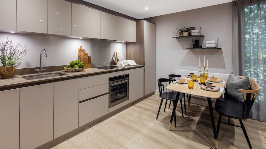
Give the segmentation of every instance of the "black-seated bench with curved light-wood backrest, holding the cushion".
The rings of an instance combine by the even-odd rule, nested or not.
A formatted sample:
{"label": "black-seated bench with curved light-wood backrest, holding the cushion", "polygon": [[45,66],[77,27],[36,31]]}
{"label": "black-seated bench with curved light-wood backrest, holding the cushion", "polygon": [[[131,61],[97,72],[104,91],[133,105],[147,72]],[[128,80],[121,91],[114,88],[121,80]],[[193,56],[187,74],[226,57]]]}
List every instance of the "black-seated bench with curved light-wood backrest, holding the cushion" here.
{"label": "black-seated bench with curved light-wood backrest, holding the cushion", "polygon": [[[236,77],[241,78],[241,79],[247,78],[244,76],[236,76]],[[248,78],[248,79],[250,81],[249,87],[246,90],[238,89],[240,94],[241,93],[244,94],[242,95],[243,101],[239,101],[235,97],[232,97],[232,94],[229,95],[228,91],[230,88],[228,88],[227,85],[226,85],[227,91],[225,92],[225,98],[220,97],[219,99],[216,100],[215,110],[220,114],[219,119],[218,119],[216,133],[218,137],[221,123],[225,123],[225,124],[235,126],[235,127],[241,127],[247,139],[247,143],[249,147],[252,148],[251,143],[247,136],[246,129],[242,123],[242,120],[246,120],[251,117],[251,107],[256,99],[256,96],[258,95],[260,91],[260,85],[254,79],[251,79],[251,78]],[[222,115],[228,117],[228,123],[221,121]],[[230,123],[230,118],[238,119],[241,126]]]}

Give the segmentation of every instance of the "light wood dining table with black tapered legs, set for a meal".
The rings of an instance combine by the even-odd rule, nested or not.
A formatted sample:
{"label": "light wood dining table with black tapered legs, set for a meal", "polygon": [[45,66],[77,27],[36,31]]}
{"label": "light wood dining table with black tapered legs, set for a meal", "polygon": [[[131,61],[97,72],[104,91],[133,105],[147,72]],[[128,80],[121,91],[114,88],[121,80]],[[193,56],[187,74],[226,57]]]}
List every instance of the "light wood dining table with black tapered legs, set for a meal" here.
{"label": "light wood dining table with black tapered legs, set for a meal", "polygon": [[[170,83],[168,86],[166,86],[166,89],[178,92],[178,94],[176,95],[176,100],[178,100],[180,93],[189,94],[189,95],[196,95],[196,96],[201,96],[201,97],[207,98],[211,122],[212,122],[212,130],[213,130],[213,135],[214,135],[214,140],[215,140],[214,145],[215,145],[215,147],[218,148],[216,127],[215,127],[213,109],[212,109],[212,98],[214,98],[214,99],[220,98],[223,93],[222,93],[222,90],[220,90],[220,91],[207,91],[207,90],[201,89],[200,84],[199,84],[200,79],[197,78],[197,80],[198,80],[198,82],[194,82],[193,89],[189,89],[188,86],[186,86],[184,84],[179,84],[176,82]],[[218,80],[224,81],[224,79],[222,79],[222,78],[218,78]],[[207,80],[206,80],[206,82],[207,82]],[[222,82],[219,82],[219,83],[211,82],[211,83],[213,83],[212,86],[216,86],[216,87],[223,88],[223,89],[225,88],[225,82],[223,82],[223,83]],[[170,128],[171,128],[171,125],[173,122],[174,115],[175,115],[176,106],[177,106],[177,102],[174,102],[174,108],[173,108],[173,112],[171,115],[170,124],[168,127],[169,131],[170,131]]]}

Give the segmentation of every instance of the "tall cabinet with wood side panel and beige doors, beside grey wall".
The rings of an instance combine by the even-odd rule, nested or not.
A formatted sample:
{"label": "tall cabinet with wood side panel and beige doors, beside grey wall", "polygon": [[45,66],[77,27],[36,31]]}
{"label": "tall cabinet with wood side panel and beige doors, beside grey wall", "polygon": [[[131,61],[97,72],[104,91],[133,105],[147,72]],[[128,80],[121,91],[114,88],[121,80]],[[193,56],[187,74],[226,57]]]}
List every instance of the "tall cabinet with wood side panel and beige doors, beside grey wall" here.
{"label": "tall cabinet with wood side panel and beige doors, beside grey wall", "polygon": [[144,65],[144,96],[156,89],[156,24],[136,22],[136,42],[127,43],[127,59]]}

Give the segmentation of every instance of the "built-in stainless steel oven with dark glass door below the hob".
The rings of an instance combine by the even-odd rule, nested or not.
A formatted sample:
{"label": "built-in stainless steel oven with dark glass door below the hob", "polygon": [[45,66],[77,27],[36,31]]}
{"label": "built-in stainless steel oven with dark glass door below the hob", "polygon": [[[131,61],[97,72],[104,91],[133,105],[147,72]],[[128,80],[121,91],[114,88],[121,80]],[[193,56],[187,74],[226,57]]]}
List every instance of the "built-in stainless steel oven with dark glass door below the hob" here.
{"label": "built-in stainless steel oven with dark glass door below the hob", "polygon": [[128,74],[109,78],[109,108],[128,100]]}

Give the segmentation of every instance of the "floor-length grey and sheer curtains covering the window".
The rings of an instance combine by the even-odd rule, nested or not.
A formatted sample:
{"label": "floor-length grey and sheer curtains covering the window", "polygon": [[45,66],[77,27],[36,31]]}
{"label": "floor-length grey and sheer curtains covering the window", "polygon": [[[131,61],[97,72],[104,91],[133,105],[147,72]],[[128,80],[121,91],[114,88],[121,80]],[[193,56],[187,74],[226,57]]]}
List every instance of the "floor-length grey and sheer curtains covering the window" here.
{"label": "floor-length grey and sheer curtains covering the window", "polygon": [[266,0],[238,0],[232,4],[233,71],[260,84],[251,119],[266,122]]}

